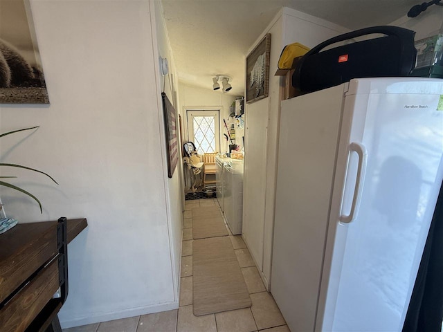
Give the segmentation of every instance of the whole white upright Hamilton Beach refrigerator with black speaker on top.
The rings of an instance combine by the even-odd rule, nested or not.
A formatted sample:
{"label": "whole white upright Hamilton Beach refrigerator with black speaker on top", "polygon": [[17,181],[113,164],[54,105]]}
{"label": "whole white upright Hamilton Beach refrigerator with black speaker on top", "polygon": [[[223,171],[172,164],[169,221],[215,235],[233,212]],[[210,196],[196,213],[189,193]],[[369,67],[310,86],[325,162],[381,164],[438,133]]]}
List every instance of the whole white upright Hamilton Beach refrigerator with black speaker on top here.
{"label": "whole white upright Hamilton Beach refrigerator with black speaker on top", "polygon": [[401,331],[442,155],[443,80],[282,102],[271,293],[292,332]]}

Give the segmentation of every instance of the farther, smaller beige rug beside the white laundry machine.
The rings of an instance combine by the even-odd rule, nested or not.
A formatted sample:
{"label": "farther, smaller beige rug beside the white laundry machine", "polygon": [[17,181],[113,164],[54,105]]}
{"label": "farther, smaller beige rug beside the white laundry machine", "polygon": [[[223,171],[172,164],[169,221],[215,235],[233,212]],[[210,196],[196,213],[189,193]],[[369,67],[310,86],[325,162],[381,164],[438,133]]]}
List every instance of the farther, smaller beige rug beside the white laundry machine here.
{"label": "farther, smaller beige rug beside the white laundry machine", "polygon": [[226,237],[228,230],[219,208],[192,209],[192,239]]}

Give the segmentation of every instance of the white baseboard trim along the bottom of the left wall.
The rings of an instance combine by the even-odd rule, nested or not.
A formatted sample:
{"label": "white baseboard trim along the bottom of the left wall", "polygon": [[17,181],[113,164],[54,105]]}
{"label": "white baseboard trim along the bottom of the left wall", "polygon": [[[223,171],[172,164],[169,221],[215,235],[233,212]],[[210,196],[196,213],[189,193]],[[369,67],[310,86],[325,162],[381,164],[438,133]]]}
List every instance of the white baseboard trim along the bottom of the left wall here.
{"label": "white baseboard trim along the bottom of the left wall", "polygon": [[62,329],[68,329],[69,327],[107,322],[109,320],[120,320],[121,318],[147,315],[148,313],[159,313],[161,311],[170,311],[177,308],[179,308],[179,302],[168,302],[153,306],[141,306],[124,309],[122,311],[113,311],[110,313],[92,314],[87,317],[75,318],[73,320],[63,320],[60,321],[60,325],[62,325]]}

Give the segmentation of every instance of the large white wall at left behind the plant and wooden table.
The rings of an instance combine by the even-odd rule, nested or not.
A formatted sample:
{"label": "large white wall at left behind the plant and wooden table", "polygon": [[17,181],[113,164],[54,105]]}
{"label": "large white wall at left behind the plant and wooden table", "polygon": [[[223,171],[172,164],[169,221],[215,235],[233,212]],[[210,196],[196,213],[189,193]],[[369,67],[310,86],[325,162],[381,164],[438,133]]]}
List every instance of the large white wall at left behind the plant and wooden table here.
{"label": "large white wall at left behind the plant and wooden table", "polygon": [[44,212],[22,194],[2,187],[0,195],[20,222],[88,219],[69,245],[62,326],[177,308],[177,178],[167,180],[150,3],[32,0],[31,8],[51,104],[0,107],[1,132],[40,125],[2,138],[1,160],[60,185],[3,167]]}

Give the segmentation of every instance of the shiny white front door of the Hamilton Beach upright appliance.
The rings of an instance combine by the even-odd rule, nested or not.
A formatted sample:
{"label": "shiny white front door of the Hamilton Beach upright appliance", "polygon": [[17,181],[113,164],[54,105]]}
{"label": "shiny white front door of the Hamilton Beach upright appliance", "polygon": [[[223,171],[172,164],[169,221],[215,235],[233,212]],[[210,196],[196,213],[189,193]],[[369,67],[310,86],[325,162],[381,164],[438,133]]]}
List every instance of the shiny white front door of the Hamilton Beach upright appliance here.
{"label": "shiny white front door of the Hamilton Beach upright appliance", "polygon": [[[349,97],[355,101],[353,111],[347,109],[352,103],[345,102],[345,117],[352,115],[352,125],[344,144],[356,142],[354,147],[362,147],[367,155],[360,156],[366,158],[365,171],[354,219],[336,228],[336,239],[345,237],[345,247],[334,245],[323,331],[401,331],[442,183],[440,98],[356,95]],[[346,216],[352,213],[358,154],[351,152],[349,159],[343,206],[338,210],[342,216],[336,215],[335,223],[349,221]],[[338,165],[346,160],[347,155],[338,156]],[[334,188],[336,194],[341,188]],[[341,264],[341,259],[340,275],[334,275],[334,264]]]}

